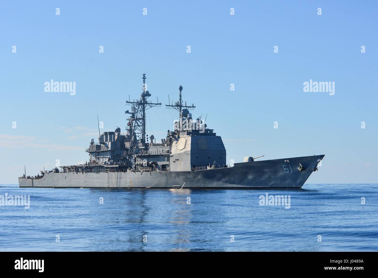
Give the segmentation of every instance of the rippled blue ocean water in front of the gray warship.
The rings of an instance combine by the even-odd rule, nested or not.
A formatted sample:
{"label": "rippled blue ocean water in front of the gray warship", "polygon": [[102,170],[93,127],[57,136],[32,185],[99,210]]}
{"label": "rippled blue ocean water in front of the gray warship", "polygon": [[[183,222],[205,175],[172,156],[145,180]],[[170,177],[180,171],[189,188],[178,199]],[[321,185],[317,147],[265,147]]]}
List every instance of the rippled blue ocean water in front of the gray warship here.
{"label": "rippled blue ocean water in front of the gray warship", "polygon": [[[0,206],[0,251],[378,251],[378,184],[290,190],[0,185],[5,193],[29,195],[30,207]],[[266,193],[290,195],[290,208],[260,205]]]}

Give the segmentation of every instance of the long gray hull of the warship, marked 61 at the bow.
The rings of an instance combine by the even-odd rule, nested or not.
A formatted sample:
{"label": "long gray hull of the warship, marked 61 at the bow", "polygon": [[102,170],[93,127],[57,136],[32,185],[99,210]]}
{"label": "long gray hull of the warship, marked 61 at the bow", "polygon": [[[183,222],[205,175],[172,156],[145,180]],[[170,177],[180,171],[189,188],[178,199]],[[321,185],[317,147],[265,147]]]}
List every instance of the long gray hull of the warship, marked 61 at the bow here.
{"label": "long gray hull of the warship, marked 61 at the bow", "polygon": [[[19,178],[20,187],[54,188],[301,188],[324,155],[235,163],[202,171],[50,173]],[[299,163],[303,166],[299,171]]]}

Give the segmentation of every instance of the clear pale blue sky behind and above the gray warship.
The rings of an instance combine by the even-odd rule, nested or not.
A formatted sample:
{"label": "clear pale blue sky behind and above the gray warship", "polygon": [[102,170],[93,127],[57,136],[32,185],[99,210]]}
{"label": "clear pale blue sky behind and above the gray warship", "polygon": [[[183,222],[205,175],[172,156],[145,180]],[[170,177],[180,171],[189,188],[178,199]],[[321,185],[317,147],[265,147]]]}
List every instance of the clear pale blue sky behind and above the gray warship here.
{"label": "clear pale blue sky behind and above the gray warship", "polygon": [[[325,154],[308,182],[376,183],[377,6],[2,2],[0,183],[17,183],[24,165],[34,175],[57,159],[86,161],[84,149],[98,135],[96,115],[101,132],[124,131],[125,101],[139,98],[144,72],[150,99],[163,103],[147,115],[147,133],[158,141],[177,118],[164,104],[182,85],[184,100],[196,105],[193,116],[208,114],[206,124],[222,136],[228,162]],[[76,82],[76,95],[45,92],[50,79]],[[335,82],[335,95],[304,92],[310,79]]]}

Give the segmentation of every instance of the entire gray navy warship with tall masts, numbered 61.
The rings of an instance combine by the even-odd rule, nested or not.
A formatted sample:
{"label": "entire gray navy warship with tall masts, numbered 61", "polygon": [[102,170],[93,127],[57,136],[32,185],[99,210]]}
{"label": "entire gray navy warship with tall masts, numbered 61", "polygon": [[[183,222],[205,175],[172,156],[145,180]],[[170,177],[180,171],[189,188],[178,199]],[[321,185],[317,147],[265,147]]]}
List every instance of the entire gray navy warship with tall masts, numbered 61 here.
{"label": "entire gray navy warship with tall masts, numbered 61", "polygon": [[[100,133],[85,150],[85,164],[60,166],[36,176],[19,177],[20,187],[51,188],[301,188],[324,155],[259,160],[244,157],[242,163],[226,164],[222,138],[209,129],[202,117],[192,118],[181,99],[166,108],[175,109],[179,119],[167,136],[156,142],[146,134],[146,110],[161,103],[151,96],[143,74],[140,99],[126,101],[125,132]],[[150,141],[148,140],[150,139]]]}

